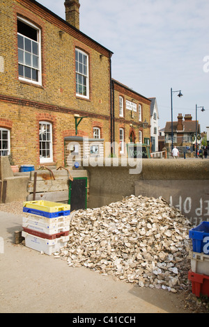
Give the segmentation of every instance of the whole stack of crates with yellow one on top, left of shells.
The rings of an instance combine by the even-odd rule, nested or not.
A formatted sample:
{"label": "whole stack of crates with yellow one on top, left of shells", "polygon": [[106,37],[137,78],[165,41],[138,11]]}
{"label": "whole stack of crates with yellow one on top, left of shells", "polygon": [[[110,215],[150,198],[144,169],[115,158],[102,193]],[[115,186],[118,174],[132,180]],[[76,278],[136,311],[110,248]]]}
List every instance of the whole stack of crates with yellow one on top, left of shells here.
{"label": "whole stack of crates with yellow one on top, left of shells", "polygon": [[22,237],[25,246],[47,255],[69,241],[70,205],[45,200],[23,202]]}

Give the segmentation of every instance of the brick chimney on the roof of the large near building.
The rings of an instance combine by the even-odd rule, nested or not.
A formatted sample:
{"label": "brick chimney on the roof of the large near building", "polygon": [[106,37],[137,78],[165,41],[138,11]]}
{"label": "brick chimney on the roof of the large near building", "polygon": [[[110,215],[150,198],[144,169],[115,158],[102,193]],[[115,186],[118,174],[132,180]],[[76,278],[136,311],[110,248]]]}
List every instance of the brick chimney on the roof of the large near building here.
{"label": "brick chimney on the roof of the large near building", "polygon": [[79,0],[65,0],[66,22],[79,29]]}

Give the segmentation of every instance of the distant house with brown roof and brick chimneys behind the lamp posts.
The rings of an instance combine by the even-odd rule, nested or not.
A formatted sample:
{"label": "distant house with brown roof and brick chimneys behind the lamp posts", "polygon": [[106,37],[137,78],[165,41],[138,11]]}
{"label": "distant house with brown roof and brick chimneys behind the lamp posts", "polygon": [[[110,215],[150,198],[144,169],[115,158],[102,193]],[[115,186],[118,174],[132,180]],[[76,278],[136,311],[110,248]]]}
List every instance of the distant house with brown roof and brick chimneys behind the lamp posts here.
{"label": "distant house with brown roof and brick chimneys behind the lamp posts", "polygon": [[[200,125],[196,120],[192,120],[192,115],[187,114],[184,117],[178,114],[178,121],[173,122],[173,145],[192,146],[195,144],[195,136],[197,133],[197,143],[201,142]],[[167,122],[164,129],[166,146],[171,145],[171,122]]]}

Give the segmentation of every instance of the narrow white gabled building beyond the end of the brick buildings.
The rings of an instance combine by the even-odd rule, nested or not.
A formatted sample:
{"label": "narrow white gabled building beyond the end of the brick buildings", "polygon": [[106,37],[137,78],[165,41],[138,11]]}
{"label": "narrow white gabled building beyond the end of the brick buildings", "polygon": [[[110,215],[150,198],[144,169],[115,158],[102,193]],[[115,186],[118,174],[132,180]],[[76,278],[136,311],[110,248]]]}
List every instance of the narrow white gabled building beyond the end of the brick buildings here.
{"label": "narrow white gabled building beyond the end of the brick buildings", "polygon": [[158,120],[159,120],[159,112],[157,108],[157,100],[156,97],[150,97],[150,141],[152,144],[151,150],[152,152],[158,151]]}

